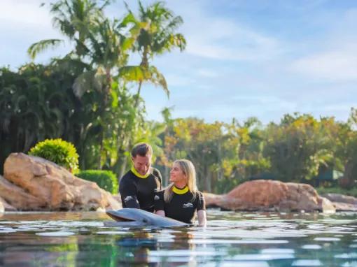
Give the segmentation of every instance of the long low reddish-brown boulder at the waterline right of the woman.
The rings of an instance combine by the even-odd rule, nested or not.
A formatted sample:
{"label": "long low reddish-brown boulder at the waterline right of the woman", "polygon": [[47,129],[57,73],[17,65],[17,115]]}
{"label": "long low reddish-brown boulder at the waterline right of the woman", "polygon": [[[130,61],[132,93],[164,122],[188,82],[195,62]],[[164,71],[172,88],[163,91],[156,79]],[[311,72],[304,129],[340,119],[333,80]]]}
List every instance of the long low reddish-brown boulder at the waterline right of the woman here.
{"label": "long low reddish-brown boulder at the waterline right of the woman", "polygon": [[225,195],[204,193],[207,206],[227,210],[313,211],[335,212],[332,203],[311,185],[274,180],[244,182]]}

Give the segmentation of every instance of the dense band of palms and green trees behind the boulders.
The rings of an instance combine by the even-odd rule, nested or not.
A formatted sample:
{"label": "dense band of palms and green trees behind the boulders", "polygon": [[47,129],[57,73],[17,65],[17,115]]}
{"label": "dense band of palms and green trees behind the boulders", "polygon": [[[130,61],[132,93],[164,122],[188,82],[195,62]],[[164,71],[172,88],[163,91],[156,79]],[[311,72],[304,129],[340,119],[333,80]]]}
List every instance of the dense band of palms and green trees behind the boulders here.
{"label": "dense band of palms and green trees behind the boulders", "polygon": [[[46,138],[62,138],[76,147],[81,169],[106,169],[121,177],[130,167],[132,145],[146,141],[153,145],[165,185],[172,162],[188,158],[197,168],[200,189],[209,192],[227,192],[256,178],[318,185],[318,175],[331,170],[342,173],[342,187],[355,187],[353,108],[347,122],[294,113],[265,126],[256,118],[207,123],[173,119],[169,108],[162,111],[164,122],[145,121],[142,85],[151,82],[169,95],[153,59],[185,49],[177,31],[183,20],[162,2],[139,2],[137,13],[127,6],[123,17],[111,19],[104,15],[110,3],[52,1],[54,26],[73,49],[45,66],[1,68],[0,173],[10,152],[28,152]],[[64,40],[38,41],[29,55],[34,58]]]}

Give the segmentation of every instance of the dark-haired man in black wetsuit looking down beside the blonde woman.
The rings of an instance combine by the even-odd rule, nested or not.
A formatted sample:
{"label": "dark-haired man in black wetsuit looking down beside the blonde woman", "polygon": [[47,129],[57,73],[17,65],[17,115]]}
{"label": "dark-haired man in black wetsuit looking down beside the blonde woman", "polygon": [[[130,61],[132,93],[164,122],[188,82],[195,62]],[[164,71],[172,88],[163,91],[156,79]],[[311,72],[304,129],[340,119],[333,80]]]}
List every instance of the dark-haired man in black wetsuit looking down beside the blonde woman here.
{"label": "dark-haired man in black wetsuit looking down beside the blonde woman", "polygon": [[154,196],[161,190],[161,174],[151,168],[153,148],[139,143],[132,148],[133,166],[120,180],[123,208],[140,208],[154,212]]}

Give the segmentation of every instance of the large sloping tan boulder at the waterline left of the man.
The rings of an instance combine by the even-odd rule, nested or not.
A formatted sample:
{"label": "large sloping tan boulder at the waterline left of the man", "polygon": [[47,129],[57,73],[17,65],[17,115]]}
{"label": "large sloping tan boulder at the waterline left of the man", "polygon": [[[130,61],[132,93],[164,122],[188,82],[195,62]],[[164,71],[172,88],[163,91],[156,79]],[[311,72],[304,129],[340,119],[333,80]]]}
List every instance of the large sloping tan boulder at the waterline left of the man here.
{"label": "large sloping tan boulder at the waterline left of the man", "polygon": [[76,178],[40,157],[13,153],[4,164],[0,196],[18,210],[103,210],[121,204],[95,182]]}

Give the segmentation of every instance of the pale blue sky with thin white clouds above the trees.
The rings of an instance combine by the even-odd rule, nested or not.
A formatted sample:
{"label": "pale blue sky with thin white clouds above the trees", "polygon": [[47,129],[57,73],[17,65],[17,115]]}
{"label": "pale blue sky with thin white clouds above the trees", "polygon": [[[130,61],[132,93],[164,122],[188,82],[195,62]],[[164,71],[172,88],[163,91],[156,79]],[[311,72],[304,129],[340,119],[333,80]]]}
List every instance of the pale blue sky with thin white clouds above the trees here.
{"label": "pale blue sky with thin white clouds above the trees", "polygon": [[[31,43],[64,38],[42,2],[48,3],[0,0],[0,66],[16,70],[30,62]],[[127,3],[137,10],[137,1]],[[169,0],[166,5],[183,18],[178,31],[187,47],[154,59],[170,96],[144,85],[148,120],[162,120],[160,110],[172,107],[175,118],[206,122],[258,117],[267,124],[295,112],[346,121],[357,107],[357,1]],[[119,0],[106,9],[109,16],[124,12]],[[70,47],[44,52],[36,62],[65,55]]]}

